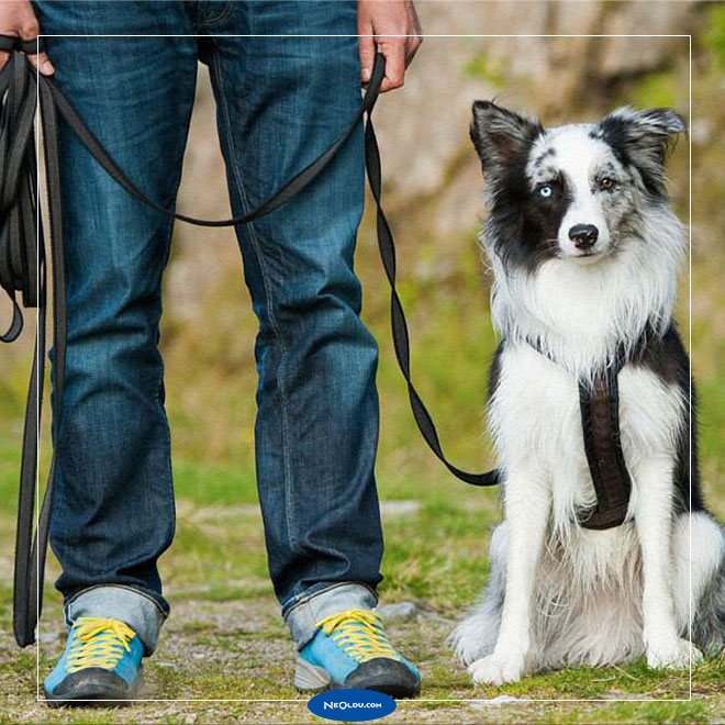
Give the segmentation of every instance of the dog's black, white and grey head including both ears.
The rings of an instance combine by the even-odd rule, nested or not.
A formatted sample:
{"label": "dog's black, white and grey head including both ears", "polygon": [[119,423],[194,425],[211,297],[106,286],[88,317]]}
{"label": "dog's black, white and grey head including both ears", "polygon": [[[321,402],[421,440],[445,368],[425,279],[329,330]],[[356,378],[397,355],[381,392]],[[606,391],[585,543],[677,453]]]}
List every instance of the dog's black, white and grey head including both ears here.
{"label": "dog's black, white and grey head including both ears", "polygon": [[642,246],[643,217],[667,207],[665,160],[684,129],[668,109],[624,108],[596,124],[547,130],[476,101],[471,140],[487,179],[491,255],[507,274],[532,275],[548,261],[599,268]]}

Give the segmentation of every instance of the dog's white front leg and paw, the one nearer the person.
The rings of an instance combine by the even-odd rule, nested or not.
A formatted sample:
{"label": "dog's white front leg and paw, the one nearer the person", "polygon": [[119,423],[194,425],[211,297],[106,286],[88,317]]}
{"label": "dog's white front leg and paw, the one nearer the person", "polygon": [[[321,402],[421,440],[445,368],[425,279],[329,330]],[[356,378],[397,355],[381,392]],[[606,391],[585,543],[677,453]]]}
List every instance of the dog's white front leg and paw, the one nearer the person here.
{"label": "dog's white front leg and paw, the one nearer the person", "polygon": [[504,515],[509,542],[501,627],[493,652],[468,668],[477,684],[514,682],[525,673],[536,569],[550,505],[550,490],[540,472],[522,468],[507,473]]}

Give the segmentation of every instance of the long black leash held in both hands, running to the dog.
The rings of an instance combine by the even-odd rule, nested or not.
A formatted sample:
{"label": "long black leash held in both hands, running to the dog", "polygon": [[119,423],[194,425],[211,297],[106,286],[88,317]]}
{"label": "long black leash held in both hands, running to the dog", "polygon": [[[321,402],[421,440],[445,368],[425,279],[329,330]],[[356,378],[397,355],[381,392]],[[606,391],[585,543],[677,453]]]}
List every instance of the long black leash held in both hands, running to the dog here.
{"label": "long black leash held in both hands, running to the dog", "polygon": [[[309,166],[252,212],[227,220],[194,219],[165,209],[148,199],[116,166],[94,134],[86,126],[60,90],[44,76],[37,75],[23,53],[35,53],[36,41],[18,42],[0,36],[0,51],[10,51],[8,65],[0,71],[0,286],[13,305],[10,328],[0,336],[10,343],[23,328],[23,316],[18,302],[25,308],[38,308],[38,327],[35,356],[29,386],[23,453],[20,475],[18,531],[15,539],[15,571],[13,595],[13,631],[21,647],[35,642],[35,628],[43,600],[43,573],[48,540],[55,454],[51,464],[48,483],[43,498],[38,526],[33,537],[33,512],[37,475],[37,435],[40,409],[45,375],[46,321],[46,247],[42,220],[38,214],[37,167],[35,160],[34,116],[36,96],[41,101],[41,119],[45,143],[45,167],[51,224],[48,242],[53,269],[53,344],[56,354],[55,393],[63,400],[66,357],[65,268],[63,255],[63,216],[60,203],[60,174],[58,161],[58,119],[78,136],[93,158],[132,197],[157,211],[199,226],[234,226],[248,224],[279,209],[294,194],[309,186],[330,164],[339,148],[352,136],[367,114],[365,125],[365,159],[370,189],[377,205],[377,232],[380,256],[391,287],[391,322],[395,357],[408,384],[415,422],[435,455],[457,478],[473,486],[493,486],[499,482],[497,471],[469,473],[448,461],[443,453],[433,420],[411,380],[410,337],[403,308],[395,289],[395,245],[392,231],[381,207],[381,166],[371,114],[384,77],[384,58],[378,54],[362,102],[341,136]],[[41,48],[43,49],[42,45]],[[37,253],[36,253],[37,250]],[[60,430],[60,405],[54,414],[54,433]],[[57,437],[55,438],[57,440]]]}

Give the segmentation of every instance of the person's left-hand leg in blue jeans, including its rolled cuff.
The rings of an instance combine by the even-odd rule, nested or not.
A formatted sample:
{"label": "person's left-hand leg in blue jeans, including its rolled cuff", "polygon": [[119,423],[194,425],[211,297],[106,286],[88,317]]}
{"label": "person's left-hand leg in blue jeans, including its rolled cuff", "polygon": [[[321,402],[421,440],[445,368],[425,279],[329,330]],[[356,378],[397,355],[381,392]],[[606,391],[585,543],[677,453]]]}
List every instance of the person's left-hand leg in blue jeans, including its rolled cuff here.
{"label": "person's left-hand leg in blue jeans, including its rolled cuff", "polygon": [[[120,167],[175,202],[193,103],[194,38],[181,2],[37,2],[54,77]],[[131,199],[60,135],[68,347],[51,543],[68,624],[125,622],[149,654],[168,613],[156,568],[174,535],[157,348],[171,222]]]}

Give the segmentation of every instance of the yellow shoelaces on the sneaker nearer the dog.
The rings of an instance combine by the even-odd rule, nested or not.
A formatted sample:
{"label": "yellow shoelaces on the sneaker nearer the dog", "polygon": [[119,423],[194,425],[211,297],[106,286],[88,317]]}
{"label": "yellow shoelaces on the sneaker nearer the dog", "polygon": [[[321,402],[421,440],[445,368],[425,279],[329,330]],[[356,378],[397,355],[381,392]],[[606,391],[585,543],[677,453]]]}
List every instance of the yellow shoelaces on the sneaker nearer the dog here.
{"label": "yellow shoelaces on the sneaker nearer the dog", "polygon": [[400,660],[400,655],[388,642],[382,620],[370,610],[345,610],[317,622],[319,627],[338,643],[343,651],[358,662],[375,657]]}

